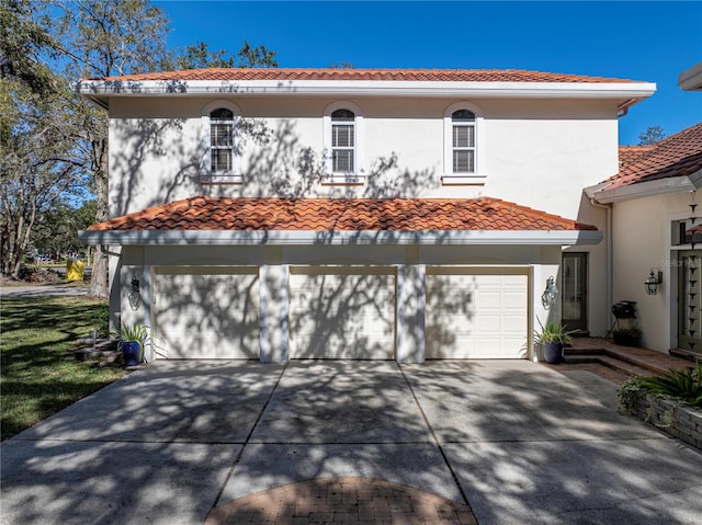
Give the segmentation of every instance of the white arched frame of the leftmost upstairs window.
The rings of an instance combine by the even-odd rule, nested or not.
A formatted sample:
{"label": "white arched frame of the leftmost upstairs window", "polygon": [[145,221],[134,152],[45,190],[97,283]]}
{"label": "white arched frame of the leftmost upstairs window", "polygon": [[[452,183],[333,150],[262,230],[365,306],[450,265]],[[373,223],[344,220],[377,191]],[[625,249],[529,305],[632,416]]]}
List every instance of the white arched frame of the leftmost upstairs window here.
{"label": "white arched frame of the leftmost upstairs window", "polygon": [[[233,137],[231,137],[231,170],[213,171],[212,170],[212,121],[211,114],[215,110],[228,110],[233,114]],[[200,183],[201,184],[241,184],[244,175],[241,173],[241,152],[239,141],[239,119],[241,118],[241,110],[228,100],[215,100],[210,102],[202,109],[202,159],[200,166]]]}

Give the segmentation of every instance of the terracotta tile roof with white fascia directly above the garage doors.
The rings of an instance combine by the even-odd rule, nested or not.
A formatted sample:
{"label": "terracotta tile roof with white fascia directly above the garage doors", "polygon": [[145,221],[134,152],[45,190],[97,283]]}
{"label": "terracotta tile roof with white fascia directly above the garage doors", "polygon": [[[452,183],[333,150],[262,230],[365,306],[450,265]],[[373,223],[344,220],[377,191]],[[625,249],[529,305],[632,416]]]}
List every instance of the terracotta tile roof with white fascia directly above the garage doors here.
{"label": "terracotta tile roof with white fascia directly above the garage doors", "polygon": [[[80,237],[87,242],[135,244],[185,243],[186,240],[205,243],[315,243],[330,242],[330,238],[325,237],[330,232],[344,233],[340,238],[347,239],[346,242],[365,239],[369,242],[394,243],[509,243],[511,239],[514,243],[563,244],[595,243],[601,239],[601,232],[593,226],[489,197],[197,196],[115,217],[91,226]],[[378,241],[381,238],[383,240]]]}

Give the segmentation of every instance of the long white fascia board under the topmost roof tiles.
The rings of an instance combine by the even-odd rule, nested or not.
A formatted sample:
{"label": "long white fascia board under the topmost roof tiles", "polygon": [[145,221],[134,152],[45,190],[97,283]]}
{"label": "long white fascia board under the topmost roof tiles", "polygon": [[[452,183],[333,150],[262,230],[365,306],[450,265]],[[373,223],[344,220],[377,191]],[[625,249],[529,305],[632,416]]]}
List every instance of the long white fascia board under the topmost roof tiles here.
{"label": "long white fascia board under the topmost roof tiles", "polygon": [[[521,96],[574,99],[644,99],[656,91],[649,82],[450,82],[396,80],[245,80],[245,81],[103,81],[83,80],[78,93],[90,96],[154,95],[383,95]],[[637,102],[631,101],[626,105]]]}

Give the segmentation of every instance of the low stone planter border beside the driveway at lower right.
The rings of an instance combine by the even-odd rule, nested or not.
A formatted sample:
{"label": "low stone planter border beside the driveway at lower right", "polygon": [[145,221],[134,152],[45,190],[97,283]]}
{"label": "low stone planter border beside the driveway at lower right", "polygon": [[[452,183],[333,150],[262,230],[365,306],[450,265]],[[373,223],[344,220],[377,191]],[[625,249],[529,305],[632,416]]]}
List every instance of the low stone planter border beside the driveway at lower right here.
{"label": "low stone planter border beside the driveway at lower right", "polygon": [[638,397],[630,413],[702,450],[702,411],[647,393]]}

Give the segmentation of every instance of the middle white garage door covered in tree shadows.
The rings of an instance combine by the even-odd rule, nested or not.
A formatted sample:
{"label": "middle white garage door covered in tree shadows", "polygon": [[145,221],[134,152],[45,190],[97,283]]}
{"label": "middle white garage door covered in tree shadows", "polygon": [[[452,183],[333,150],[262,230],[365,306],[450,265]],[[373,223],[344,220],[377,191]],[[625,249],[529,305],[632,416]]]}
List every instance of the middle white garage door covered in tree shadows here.
{"label": "middle white garage door covered in tree shadows", "polygon": [[395,270],[291,269],[292,358],[392,359]]}

